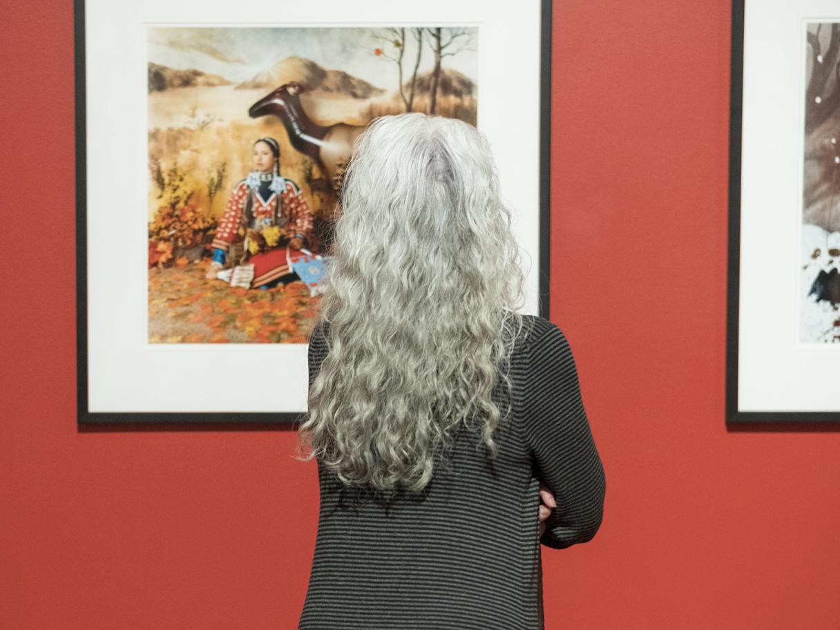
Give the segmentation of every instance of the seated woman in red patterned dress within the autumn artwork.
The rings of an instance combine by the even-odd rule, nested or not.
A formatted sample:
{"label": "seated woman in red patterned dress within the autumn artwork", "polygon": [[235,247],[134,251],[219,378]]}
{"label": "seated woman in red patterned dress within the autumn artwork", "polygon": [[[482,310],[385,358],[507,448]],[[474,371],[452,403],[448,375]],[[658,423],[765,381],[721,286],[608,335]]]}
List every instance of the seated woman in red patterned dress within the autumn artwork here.
{"label": "seated woman in red patterned dress within the autumn artwork", "polygon": [[247,263],[253,265],[249,287],[269,288],[294,274],[301,249],[312,248],[312,214],[297,184],[280,174],[276,139],[255,141],[254,167],[234,186],[219,218],[207,277]]}

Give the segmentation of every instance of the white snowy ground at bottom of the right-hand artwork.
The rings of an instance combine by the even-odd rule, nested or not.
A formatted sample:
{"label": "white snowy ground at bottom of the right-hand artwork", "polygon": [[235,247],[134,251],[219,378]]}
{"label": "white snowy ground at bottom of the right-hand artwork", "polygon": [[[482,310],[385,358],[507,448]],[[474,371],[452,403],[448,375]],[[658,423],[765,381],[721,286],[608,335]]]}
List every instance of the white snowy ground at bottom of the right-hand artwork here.
{"label": "white snowy ground at bottom of the right-hand artwork", "polygon": [[[840,232],[806,223],[802,226],[802,259],[800,269],[800,340],[812,343],[840,343],[840,307],[827,300],[816,302],[809,296],[820,270],[840,270]],[[833,254],[833,255],[832,255]]]}

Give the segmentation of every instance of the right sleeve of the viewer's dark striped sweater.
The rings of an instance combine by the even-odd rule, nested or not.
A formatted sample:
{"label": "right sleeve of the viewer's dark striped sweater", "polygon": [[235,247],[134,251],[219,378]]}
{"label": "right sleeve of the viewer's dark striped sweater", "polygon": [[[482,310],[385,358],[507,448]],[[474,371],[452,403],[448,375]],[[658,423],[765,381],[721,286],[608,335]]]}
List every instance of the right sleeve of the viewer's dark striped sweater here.
{"label": "right sleeve of the viewer's dark striped sweater", "polygon": [[557,507],[540,542],[565,549],[591,540],[603,517],[606,478],[580,396],[575,359],[552,323],[533,341],[524,390],[523,437]]}

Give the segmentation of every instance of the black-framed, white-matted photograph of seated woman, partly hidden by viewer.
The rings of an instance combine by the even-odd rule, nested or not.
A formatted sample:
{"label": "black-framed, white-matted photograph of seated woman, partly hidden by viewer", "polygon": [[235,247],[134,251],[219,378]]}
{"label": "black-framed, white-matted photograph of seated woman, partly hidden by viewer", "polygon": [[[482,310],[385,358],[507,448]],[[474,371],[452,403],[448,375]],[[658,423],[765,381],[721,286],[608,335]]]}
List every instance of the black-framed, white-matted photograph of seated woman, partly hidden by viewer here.
{"label": "black-framed, white-matted photograph of seated woman, partly hidden by viewer", "polygon": [[370,120],[490,140],[548,317],[551,3],[76,0],[80,423],[292,423]]}

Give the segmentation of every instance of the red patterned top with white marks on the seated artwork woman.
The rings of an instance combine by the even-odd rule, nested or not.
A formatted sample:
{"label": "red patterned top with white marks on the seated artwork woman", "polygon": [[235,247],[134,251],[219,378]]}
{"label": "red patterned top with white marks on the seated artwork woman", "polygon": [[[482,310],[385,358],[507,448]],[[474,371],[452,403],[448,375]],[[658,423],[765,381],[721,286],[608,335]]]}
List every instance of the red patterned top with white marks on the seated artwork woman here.
{"label": "red patterned top with white marks on the seated artwork woman", "polygon": [[[277,202],[281,203],[281,212],[278,213],[282,233],[287,239],[294,239],[302,236],[303,246],[312,246],[312,213],[309,212],[307,202],[301,195],[300,188],[294,181],[283,180],[284,190],[278,195],[271,192],[268,199],[260,197],[259,192],[254,193],[254,206],[251,213],[254,215],[255,223],[267,224],[274,217]],[[247,180],[239,181],[234,186],[234,191],[228,200],[228,207],[225,208],[222,217],[218,220],[216,235],[213,239],[213,248],[222,249],[227,252],[228,247],[234,241],[241,241],[242,235],[239,228],[242,225],[242,213],[245,202],[248,199],[249,187]],[[282,223],[286,221],[285,225]],[[255,227],[255,226],[249,226]]]}

